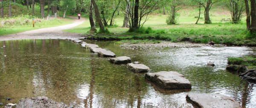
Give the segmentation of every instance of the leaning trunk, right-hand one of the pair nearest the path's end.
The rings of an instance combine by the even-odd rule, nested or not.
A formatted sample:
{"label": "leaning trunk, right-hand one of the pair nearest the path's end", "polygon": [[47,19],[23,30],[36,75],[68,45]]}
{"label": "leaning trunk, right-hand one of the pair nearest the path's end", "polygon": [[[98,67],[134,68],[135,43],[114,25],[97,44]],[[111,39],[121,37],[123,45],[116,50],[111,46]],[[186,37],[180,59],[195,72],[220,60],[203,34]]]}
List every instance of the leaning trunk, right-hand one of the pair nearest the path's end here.
{"label": "leaning trunk, right-hand one of the pair nearest the path's end", "polygon": [[100,14],[99,14],[99,8],[98,8],[97,4],[95,3],[95,0],[91,0],[91,2],[93,3],[96,20],[99,24],[99,32],[105,32],[105,28],[104,28],[104,25],[102,23],[102,19],[101,19]]}

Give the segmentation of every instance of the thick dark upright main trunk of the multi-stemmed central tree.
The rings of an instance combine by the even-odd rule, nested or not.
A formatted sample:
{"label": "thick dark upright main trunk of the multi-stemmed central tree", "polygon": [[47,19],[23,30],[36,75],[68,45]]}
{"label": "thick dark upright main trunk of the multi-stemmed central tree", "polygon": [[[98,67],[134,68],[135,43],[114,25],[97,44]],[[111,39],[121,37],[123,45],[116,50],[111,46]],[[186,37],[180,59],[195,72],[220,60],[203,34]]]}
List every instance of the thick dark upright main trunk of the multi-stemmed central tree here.
{"label": "thick dark upright main trunk of the multi-stemmed central tree", "polygon": [[134,6],[134,24],[132,24],[132,27],[130,29],[136,30],[139,28],[139,3],[140,0],[135,0],[135,6]]}

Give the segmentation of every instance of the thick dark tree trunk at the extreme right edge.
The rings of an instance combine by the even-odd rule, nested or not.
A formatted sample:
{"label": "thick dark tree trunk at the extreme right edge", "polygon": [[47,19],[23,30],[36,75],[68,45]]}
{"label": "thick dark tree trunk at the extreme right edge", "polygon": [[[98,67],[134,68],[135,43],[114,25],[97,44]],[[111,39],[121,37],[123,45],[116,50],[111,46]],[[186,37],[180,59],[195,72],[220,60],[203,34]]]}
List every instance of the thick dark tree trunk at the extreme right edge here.
{"label": "thick dark tree trunk at the extreme right edge", "polygon": [[250,33],[255,33],[256,35],[256,0],[250,0],[251,2],[251,25],[250,25]]}

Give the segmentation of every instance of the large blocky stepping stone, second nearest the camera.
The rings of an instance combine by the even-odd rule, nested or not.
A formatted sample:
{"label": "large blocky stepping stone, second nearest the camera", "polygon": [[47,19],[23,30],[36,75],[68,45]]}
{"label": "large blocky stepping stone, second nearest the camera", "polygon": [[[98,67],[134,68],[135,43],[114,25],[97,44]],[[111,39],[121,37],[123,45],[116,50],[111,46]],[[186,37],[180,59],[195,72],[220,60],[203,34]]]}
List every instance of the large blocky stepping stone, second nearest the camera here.
{"label": "large blocky stepping stone, second nearest the camera", "polygon": [[175,71],[146,73],[145,78],[163,89],[191,89],[189,80]]}

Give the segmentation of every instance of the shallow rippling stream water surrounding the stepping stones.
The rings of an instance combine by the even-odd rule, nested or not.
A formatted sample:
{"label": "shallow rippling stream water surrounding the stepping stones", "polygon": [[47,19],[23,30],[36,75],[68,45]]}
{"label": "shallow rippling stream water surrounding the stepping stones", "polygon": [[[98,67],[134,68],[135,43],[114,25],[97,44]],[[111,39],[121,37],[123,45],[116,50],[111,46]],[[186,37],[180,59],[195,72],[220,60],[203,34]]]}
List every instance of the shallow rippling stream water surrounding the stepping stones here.
{"label": "shallow rippling stream water surrounding the stepping stones", "polygon": [[[0,102],[46,96],[58,102],[93,108],[191,108],[188,92],[233,97],[242,107],[256,106],[256,85],[225,70],[227,57],[256,55],[255,47],[191,47],[127,50],[116,42],[90,42],[129,56],[151,72],[177,71],[192,83],[191,90],[163,90],[113,65],[78,44],[65,40],[0,42]],[[6,56],[4,56],[6,55]],[[215,67],[207,66],[214,62]],[[12,98],[6,101],[6,98]]]}

